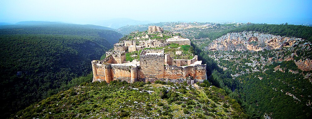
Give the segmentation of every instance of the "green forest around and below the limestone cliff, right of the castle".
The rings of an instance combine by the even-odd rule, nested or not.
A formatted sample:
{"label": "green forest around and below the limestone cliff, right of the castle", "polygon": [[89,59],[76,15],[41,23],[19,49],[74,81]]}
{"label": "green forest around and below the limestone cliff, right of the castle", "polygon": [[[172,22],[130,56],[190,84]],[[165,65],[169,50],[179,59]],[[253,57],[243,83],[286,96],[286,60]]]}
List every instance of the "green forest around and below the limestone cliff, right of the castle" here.
{"label": "green forest around and below the limestone cliff, right of the castle", "polygon": [[[280,36],[299,37],[305,39],[304,42],[312,41],[312,27],[301,25],[269,25],[269,24],[253,24],[236,29],[228,29],[222,32],[202,32],[199,33],[196,38],[209,38],[210,41],[221,37],[229,32],[243,32],[243,31],[257,31],[261,33],[270,33]],[[206,41],[206,46],[210,41]],[[297,68],[293,60],[287,62],[271,62],[266,65],[261,71],[246,73],[239,77],[233,78],[234,72],[249,70],[245,62],[251,62],[250,59],[235,59],[233,62],[241,63],[245,67],[235,67],[237,64],[232,61],[219,59],[218,63],[213,58],[209,57],[209,54],[219,54],[225,56],[229,54],[227,52],[218,51],[203,51],[205,45],[194,45],[195,54],[199,55],[200,60],[206,63],[207,74],[209,76],[209,82],[212,85],[224,89],[230,97],[239,101],[246,114],[250,118],[262,118],[264,114],[268,114],[272,118],[311,118],[312,111],[309,100],[311,100],[311,82],[305,79],[303,75],[311,73],[311,71],[301,71]],[[300,58],[311,57],[310,49],[304,49],[303,47],[283,48],[275,51],[260,52],[262,56],[267,58],[274,57],[280,59],[281,57],[288,57],[294,52],[298,52],[298,56],[293,57],[296,60]],[[288,53],[289,52],[289,53]],[[222,54],[225,53],[225,54]],[[242,52],[232,52],[231,55]],[[244,52],[246,57],[259,55],[257,52]],[[276,56],[275,56],[276,55]],[[222,61],[221,61],[222,60]],[[227,70],[221,69],[218,65],[227,67]],[[234,65],[234,66],[233,66]],[[274,71],[274,67],[279,66],[285,70],[285,72]],[[292,72],[289,72],[289,71]],[[249,70],[251,71],[251,70]],[[299,72],[299,73],[293,73]],[[262,80],[260,80],[260,78]],[[295,97],[293,97],[295,96]]]}

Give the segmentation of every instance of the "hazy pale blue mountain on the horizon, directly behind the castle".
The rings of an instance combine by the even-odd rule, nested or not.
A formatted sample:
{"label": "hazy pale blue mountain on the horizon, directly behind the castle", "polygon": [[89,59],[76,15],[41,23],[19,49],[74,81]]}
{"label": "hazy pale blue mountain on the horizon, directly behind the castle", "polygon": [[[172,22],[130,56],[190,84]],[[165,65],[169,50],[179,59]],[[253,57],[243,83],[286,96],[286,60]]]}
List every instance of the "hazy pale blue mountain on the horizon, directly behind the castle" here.
{"label": "hazy pale blue mountain on the horizon, directly behind the castle", "polygon": [[142,25],[152,23],[150,21],[137,21],[129,18],[117,18],[97,22],[96,25],[118,29],[126,25]]}

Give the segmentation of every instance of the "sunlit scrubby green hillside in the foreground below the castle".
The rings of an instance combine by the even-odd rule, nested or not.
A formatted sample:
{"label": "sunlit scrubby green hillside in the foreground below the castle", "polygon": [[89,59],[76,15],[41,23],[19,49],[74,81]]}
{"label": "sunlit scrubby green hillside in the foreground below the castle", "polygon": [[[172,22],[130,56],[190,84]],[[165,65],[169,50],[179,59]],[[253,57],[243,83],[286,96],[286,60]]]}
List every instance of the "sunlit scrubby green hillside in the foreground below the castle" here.
{"label": "sunlit scrubby green hillside in the foreground below the castle", "polygon": [[[89,77],[90,79],[92,77]],[[245,118],[223,89],[197,85],[113,81],[61,91],[11,118]]]}

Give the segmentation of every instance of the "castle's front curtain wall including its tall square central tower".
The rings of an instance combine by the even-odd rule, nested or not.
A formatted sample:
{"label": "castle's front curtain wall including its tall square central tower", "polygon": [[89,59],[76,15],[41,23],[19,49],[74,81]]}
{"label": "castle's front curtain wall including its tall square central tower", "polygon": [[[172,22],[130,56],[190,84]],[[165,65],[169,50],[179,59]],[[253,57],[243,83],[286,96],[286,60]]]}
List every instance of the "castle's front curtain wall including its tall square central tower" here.
{"label": "castle's front curtain wall including its tall square central tower", "polygon": [[[167,59],[165,59],[167,56]],[[201,61],[197,61],[197,56],[191,60],[175,60],[170,61],[170,56],[164,55],[163,49],[146,49],[140,53],[140,61],[115,63],[119,61],[114,58],[106,57],[104,60],[92,61],[93,82],[113,80],[122,80],[127,82],[155,82],[161,80],[165,82],[184,82],[188,84],[203,82],[207,79],[206,64],[202,65]],[[169,61],[168,61],[169,58]],[[165,63],[167,60],[167,63]],[[172,65],[176,62],[180,66]],[[170,63],[171,62],[171,63]],[[167,65],[168,64],[168,65]],[[185,66],[181,65],[185,64]]]}

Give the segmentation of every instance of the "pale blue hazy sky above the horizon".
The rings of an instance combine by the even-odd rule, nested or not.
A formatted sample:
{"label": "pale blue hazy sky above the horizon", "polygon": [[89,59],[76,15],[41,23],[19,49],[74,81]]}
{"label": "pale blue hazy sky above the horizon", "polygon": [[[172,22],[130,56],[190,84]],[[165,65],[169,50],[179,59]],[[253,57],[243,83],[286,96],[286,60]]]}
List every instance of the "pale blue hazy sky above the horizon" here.
{"label": "pale blue hazy sky above the horizon", "polygon": [[93,24],[113,18],[312,23],[312,0],[0,0],[0,22]]}

